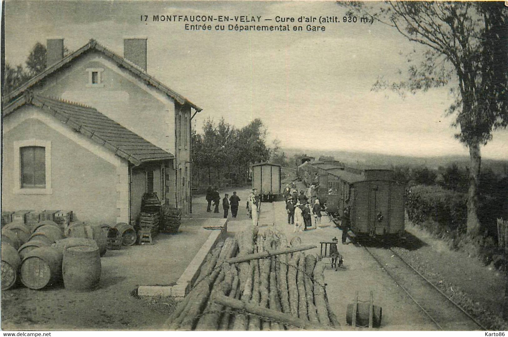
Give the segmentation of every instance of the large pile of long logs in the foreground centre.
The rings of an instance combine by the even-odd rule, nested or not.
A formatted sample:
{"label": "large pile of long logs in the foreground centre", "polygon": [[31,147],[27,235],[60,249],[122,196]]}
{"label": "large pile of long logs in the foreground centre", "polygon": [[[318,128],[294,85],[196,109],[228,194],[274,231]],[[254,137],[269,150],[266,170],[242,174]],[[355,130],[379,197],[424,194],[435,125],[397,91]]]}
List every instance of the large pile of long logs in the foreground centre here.
{"label": "large pile of long logs in the foreground centre", "polygon": [[166,322],[170,330],[339,329],[329,309],[324,263],[256,227],[219,242],[194,288]]}

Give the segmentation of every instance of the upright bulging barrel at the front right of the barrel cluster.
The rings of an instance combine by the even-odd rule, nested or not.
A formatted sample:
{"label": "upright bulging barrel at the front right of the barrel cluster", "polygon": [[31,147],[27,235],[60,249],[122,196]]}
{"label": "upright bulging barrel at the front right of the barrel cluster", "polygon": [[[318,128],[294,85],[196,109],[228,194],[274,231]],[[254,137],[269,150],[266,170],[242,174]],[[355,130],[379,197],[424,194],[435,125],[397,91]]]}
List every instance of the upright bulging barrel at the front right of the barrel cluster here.
{"label": "upright bulging barrel at the front right of the barrel cluster", "polygon": [[90,246],[67,246],[62,262],[63,286],[71,291],[91,291],[101,279],[99,249]]}

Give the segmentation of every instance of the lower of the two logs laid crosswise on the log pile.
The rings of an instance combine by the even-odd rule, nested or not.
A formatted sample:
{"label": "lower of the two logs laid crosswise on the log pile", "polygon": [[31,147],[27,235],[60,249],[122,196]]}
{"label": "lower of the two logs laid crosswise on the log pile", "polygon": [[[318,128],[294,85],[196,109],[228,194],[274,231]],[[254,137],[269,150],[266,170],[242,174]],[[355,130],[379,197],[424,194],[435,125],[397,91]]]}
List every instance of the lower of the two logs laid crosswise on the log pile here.
{"label": "lower of the two logs laid crosswise on the log pile", "polygon": [[224,295],[217,295],[210,300],[238,310],[245,310],[248,313],[255,314],[258,316],[266,317],[267,319],[278,321],[285,325],[290,325],[296,328],[302,328],[307,330],[330,330],[330,326],[315,325],[308,320],[303,320],[298,317],[281,313],[273,309],[267,309],[260,307],[259,305],[245,303],[243,301],[233,299]]}

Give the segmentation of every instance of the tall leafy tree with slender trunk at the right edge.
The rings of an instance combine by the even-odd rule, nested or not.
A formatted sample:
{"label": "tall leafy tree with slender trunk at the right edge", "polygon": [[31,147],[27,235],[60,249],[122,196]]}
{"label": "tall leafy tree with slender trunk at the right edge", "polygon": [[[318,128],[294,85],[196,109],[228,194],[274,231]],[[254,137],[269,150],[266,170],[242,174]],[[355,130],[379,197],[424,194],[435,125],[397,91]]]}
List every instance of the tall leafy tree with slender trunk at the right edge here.
{"label": "tall leafy tree with slender trunk at the right edge", "polygon": [[374,89],[415,93],[456,83],[448,114],[456,117],[456,138],[469,148],[467,233],[478,234],[481,145],[492,139],[493,130],[508,125],[508,9],[502,2],[400,1],[380,7],[351,2],[346,6],[392,26],[425,48],[423,60],[418,64],[410,60],[407,80],[389,83],[380,78]]}

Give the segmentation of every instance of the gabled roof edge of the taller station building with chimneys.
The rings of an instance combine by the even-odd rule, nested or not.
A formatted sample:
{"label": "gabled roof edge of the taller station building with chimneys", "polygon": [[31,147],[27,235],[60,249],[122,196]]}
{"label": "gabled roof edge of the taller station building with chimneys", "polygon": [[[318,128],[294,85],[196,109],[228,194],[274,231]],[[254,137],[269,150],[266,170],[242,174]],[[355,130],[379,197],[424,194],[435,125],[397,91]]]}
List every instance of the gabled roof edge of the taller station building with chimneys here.
{"label": "gabled roof edge of the taller station building with chimneys", "polygon": [[56,72],[62,67],[65,67],[69,63],[71,63],[74,59],[79,57],[82,54],[85,54],[89,51],[99,51],[109,57],[110,59],[115,62],[118,67],[124,68],[126,70],[129,70],[133,75],[135,75],[137,78],[139,78],[142,82],[144,82],[146,85],[152,86],[155,89],[161,91],[162,93],[166,94],[167,96],[171,97],[175,101],[177,101],[180,104],[188,104],[190,107],[194,108],[196,111],[201,111],[200,107],[193,104],[192,102],[188,101],[185,97],[179,95],[176,93],[176,91],[173,91],[154,77],[148,75],[143,69],[136,66],[134,63],[130,62],[128,59],[121,57],[114,52],[110,51],[106,47],[100,45],[96,40],[91,39],[87,44],[85,44],[83,47],[79,48],[78,50],[70,53],[69,55],[63,57],[59,62],[55,63],[54,65],[51,65],[46,70],[44,70],[39,75],[29,79],[27,82],[19,86],[18,88],[11,91],[9,94],[4,96],[4,102],[11,102],[13,99],[18,97],[19,95],[23,94],[23,92],[26,89],[29,89],[30,87],[34,86],[35,84],[39,83],[42,79],[44,79],[46,76]]}

